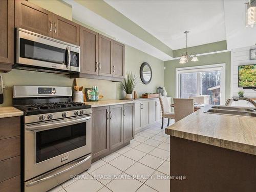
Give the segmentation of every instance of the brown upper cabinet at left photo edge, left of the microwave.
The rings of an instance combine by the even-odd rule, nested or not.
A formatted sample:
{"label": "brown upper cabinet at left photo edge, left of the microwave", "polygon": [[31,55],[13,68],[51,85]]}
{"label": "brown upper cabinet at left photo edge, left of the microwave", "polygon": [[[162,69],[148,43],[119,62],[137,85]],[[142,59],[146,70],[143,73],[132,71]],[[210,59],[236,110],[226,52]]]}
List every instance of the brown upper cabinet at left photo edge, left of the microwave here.
{"label": "brown upper cabinet at left photo edge, left of the microwave", "polygon": [[14,64],[14,0],[0,1],[0,71]]}

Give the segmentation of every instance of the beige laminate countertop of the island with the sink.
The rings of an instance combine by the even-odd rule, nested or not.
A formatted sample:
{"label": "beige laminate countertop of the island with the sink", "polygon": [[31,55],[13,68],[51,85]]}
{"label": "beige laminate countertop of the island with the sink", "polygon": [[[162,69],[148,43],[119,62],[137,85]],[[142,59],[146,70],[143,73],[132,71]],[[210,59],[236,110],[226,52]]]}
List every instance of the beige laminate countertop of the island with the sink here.
{"label": "beige laminate countertop of the island with the sink", "polygon": [[210,105],[165,129],[171,136],[256,155],[256,118],[204,113]]}

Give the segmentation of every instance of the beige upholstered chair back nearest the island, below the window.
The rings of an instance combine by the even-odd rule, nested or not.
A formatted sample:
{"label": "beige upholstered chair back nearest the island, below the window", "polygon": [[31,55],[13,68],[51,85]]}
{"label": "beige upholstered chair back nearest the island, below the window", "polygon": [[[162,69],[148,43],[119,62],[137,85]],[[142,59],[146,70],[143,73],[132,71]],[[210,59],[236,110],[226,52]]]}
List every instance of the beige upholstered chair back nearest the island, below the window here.
{"label": "beige upholstered chair back nearest the island, below the window", "polygon": [[174,117],[175,122],[183,119],[194,112],[193,99],[174,98]]}

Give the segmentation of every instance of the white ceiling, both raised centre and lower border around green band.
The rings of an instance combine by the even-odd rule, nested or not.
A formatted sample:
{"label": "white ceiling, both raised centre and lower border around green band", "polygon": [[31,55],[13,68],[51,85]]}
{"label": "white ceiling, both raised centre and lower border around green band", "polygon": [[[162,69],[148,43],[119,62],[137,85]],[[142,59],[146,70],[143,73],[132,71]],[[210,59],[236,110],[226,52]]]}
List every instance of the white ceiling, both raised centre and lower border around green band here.
{"label": "white ceiling, both raised centre and lower border around green band", "polygon": [[[75,1],[62,1],[72,5],[73,18],[81,23],[161,60],[173,59]],[[227,40],[227,50],[231,50],[256,42],[256,26],[245,28],[248,0],[104,1],[173,50],[185,48],[186,30],[190,31],[188,47]]]}

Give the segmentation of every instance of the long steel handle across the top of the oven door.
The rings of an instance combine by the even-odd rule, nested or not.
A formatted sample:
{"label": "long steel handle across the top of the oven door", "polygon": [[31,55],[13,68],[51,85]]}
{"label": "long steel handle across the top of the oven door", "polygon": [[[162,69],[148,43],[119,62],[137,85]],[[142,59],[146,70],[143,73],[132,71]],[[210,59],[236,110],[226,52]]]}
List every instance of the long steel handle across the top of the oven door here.
{"label": "long steel handle across the top of the oven door", "polygon": [[89,119],[91,119],[91,116],[76,118],[73,120],[65,119],[65,120],[61,120],[61,122],[55,122],[55,123],[48,122],[48,123],[41,123],[41,124],[34,124],[34,125],[25,125],[25,129],[28,131],[49,130],[49,129],[54,129],[60,126],[68,126],[76,123],[82,123],[82,122],[88,121]]}

